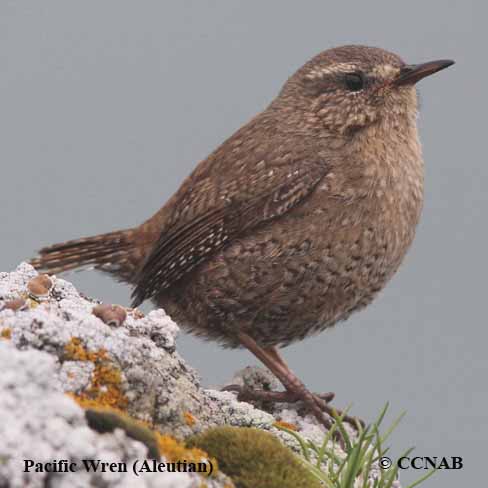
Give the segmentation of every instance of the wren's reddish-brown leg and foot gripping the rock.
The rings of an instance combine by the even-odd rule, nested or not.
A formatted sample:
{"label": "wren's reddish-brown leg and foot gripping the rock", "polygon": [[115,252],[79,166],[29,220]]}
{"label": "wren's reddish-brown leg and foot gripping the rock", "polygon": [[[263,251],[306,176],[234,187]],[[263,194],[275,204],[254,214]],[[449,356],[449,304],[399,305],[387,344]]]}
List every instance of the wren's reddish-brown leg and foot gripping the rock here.
{"label": "wren's reddish-brown leg and foot gripping the rock", "polygon": [[[241,332],[238,335],[239,340],[243,346],[251,351],[282,383],[285,387],[285,392],[270,392],[264,390],[250,390],[246,388],[239,388],[231,386],[228,389],[238,390],[239,398],[265,400],[271,402],[295,402],[302,400],[315,415],[316,419],[323,424],[327,429],[332,426],[331,420],[324,415],[326,412],[330,417],[333,416],[334,409],[330,407],[327,402],[334,397],[333,393],[324,395],[314,395],[307,387],[300,381],[300,379],[288,368],[283,358],[280,356],[276,348],[262,348],[249,335]],[[337,415],[341,412],[335,411]],[[358,420],[344,416],[344,421],[357,427]]]}

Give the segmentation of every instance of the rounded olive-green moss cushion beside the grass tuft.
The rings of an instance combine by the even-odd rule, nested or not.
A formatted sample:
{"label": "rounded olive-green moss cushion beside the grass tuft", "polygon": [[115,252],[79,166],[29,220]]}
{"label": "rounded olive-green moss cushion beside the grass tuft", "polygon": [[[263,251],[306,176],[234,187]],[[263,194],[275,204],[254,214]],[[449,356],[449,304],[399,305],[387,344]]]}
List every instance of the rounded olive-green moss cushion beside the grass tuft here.
{"label": "rounded olive-green moss cushion beside the grass tuft", "polygon": [[216,427],[187,441],[217,459],[237,488],[319,488],[293,452],[259,429]]}

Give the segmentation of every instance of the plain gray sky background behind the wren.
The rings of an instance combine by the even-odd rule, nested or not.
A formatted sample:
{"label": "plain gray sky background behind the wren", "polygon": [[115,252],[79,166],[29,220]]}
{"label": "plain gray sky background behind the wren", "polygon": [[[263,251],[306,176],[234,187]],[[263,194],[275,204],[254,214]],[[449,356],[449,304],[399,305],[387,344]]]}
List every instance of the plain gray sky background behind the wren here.
{"label": "plain gray sky background behind the wren", "polygon": [[[0,270],[42,245],[140,223],[317,52],[363,43],[456,65],[419,84],[426,202],[380,298],[285,350],[315,390],[372,419],[408,414],[398,452],[462,456],[425,486],[481,486],[488,436],[487,11],[483,2],[0,2]],[[128,303],[98,273],[67,276]],[[182,335],[215,385],[255,360]],[[404,471],[413,480],[423,472]]]}

